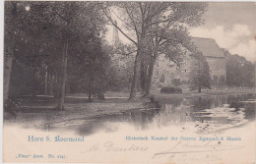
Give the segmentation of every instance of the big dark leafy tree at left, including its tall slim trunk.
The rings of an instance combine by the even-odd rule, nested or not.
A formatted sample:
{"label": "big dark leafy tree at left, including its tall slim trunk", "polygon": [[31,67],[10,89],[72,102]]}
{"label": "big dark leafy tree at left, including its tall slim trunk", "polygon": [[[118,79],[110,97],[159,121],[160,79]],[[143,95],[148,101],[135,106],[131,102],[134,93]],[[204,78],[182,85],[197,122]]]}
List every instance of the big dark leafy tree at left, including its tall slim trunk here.
{"label": "big dark leafy tree at left, including its tall slim trunk", "polygon": [[[41,83],[42,77],[39,73],[47,72],[54,77],[57,108],[63,109],[68,58],[76,56],[70,49],[74,44],[81,47],[85,43],[93,44],[88,36],[94,33],[102,39],[105,31],[98,3],[5,2],[5,8],[5,50],[17,49],[14,59],[27,70],[34,70],[32,77],[38,82]],[[16,17],[12,11],[17,12]],[[19,48],[8,48],[14,34],[17,35],[15,46]],[[87,39],[87,42],[83,41]],[[17,69],[11,70],[14,73]],[[11,74],[10,83],[17,82],[12,81],[14,78]],[[21,79],[21,82],[27,81]]]}

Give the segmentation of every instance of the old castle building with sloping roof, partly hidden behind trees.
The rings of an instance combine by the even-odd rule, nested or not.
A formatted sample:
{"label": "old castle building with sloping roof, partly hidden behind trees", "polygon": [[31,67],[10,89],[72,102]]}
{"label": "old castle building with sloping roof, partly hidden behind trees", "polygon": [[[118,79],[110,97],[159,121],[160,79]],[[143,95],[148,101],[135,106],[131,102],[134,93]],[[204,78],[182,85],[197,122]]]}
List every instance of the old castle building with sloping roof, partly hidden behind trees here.
{"label": "old castle building with sloping roof, partly hidden behind trees", "polygon": [[[198,50],[206,57],[209,65],[211,84],[224,85],[226,81],[225,57],[223,50],[219,47],[215,39],[193,37],[192,41]],[[178,68],[173,62],[165,59],[164,55],[160,55],[155,65],[153,86],[166,86],[176,84],[188,84],[189,73],[193,58],[188,52],[181,67]]]}

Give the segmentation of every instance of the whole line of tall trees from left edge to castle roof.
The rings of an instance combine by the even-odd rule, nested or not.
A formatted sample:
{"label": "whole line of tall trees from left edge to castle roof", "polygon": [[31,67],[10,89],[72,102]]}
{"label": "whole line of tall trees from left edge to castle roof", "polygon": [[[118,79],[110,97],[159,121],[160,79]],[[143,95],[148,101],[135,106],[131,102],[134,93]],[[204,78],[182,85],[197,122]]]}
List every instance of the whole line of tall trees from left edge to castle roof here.
{"label": "whole line of tall trees from left edge to castle roof", "polygon": [[[45,84],[47,73],[56,88],[58,109],[64,107],[67,85],[88,92],[90,97],[100,94],[111,85],[107,78],[114,76],[107,76],[110,58],[103,40],[105,26],[111,25],[133,44],[125,50],[117,47],[118,51],[136,53],[129,99],[135,98],[138,88],[148,96],[160,54],[177,66],[188,51],[199,54],[188,27],[203,24],[206,6],[179,2],[7,1],[5,58],[11,57],[10,85],[22,80],[20,84],[30,86],[29,90],[38,90],[38,85]],[[13,86],[9,89],[11,98],[20,95],[15,90],[18,87]]]}

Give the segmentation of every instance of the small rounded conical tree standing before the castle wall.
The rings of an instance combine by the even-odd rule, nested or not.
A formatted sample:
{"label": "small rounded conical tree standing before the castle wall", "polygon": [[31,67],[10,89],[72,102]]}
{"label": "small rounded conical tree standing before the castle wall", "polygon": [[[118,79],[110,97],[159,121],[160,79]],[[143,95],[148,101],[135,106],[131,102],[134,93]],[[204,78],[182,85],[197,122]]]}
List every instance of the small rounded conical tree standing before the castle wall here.
{"label": "small rounded conical tree standing before the castle wall", "polygon": [[198,92],[201,92],[202,87],[211,88],[209,65],[203,54],[198,54],[191,62],[190,87],[197,88]]}

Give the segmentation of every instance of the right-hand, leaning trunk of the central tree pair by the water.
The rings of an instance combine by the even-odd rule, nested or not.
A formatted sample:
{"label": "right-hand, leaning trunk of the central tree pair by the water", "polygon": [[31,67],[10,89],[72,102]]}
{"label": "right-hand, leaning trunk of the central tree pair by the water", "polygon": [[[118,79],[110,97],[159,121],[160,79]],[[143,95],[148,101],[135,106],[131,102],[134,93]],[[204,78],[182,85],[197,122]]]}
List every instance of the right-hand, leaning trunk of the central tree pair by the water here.
{"label": "right-hand, leaning trunk of the central tree pair by the water", "polygon": [[151,93],[151,84],[152,84],[152,78],[153,78],[153,72],[154,72],[154,67],[156,64],[156,60],[157,60],[158,55],[155,53],[154,57],[151,60],[150,63],[150,68],[149,68],[149,74],[148,74],[148,78],[147,78],[147,82],[146,82],[146,88],[145,88],[145,92],[144,92],[144,97],[150,95]]}

